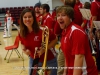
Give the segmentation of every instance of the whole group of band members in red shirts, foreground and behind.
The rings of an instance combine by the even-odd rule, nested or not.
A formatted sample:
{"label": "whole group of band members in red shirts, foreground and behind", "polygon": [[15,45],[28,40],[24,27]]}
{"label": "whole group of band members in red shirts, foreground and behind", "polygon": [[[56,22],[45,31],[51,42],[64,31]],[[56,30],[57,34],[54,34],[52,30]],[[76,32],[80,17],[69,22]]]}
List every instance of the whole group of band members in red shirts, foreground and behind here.
{"label": "whole group of band members in red shirts, foreground and behind", "polygon": [[[50,6],[41,3],[35,4],[34,9],[25,8],[20,14],[18,36],[23,52],[29,56],[29,75],[32,75],[31,67],[34,67],[32,64],[36,62],[36,58],[39,58],[38,67],[43,65],[45,50],[41,43],[45,26],[49,28],[46,66],[57,67],[49,69],[49,75],[98,75],[100,47],[97,32],[100,32],[95,29],[93,21],[100,21],[100,0],[85,2],[85,4],[82,4],[80,0],[61,1],[64,5],[57,6],[52,14]],[[91,11],[90,20],[84,18],[80,12],[81,8]],[[10,36],[10,32],[8,34]],[[90,45],[90,40],[93,39],[96,41],[96,65]],[[57,54],[55,45],[58,41],[61,46]],[[34,58],[36,47],[38,50]]]}

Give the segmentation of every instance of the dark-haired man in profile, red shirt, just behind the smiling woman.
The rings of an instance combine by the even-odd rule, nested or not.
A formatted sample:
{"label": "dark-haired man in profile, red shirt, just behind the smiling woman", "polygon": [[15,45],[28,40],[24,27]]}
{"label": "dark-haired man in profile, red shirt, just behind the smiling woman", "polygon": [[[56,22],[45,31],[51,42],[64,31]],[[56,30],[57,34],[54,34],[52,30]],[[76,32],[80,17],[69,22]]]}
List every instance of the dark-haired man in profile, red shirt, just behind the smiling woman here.
{"label": "dark-haired man in profile, red shirt, just behind the smiling woman", "polygon": [[42,4],[40,6],[40,14],[42,15],[42,26],[48,26],[49,29],[53,31],[54,29],[54,19],[52,18],[51,14],[49,13],[50,7],[48,4]]}

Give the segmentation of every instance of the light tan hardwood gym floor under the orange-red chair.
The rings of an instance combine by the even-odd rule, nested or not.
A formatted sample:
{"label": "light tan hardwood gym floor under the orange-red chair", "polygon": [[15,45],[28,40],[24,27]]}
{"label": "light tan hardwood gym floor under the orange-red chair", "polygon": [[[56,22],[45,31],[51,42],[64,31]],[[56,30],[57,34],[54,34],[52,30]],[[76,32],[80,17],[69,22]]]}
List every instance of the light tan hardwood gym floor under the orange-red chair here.
{"label": "light tan hardwood gym floor under the orange-red chair", "polygon": [[[7,60],[4,60],[6,55],[5,46],[13,45],[15,37],[17,36],[17,31],[12,31],[12,37],[3,38],[3,32],[0,32],[0,75],[28,75],[28,56],[23,54],[24,57],[24,67],[23,61],[21,58],[18,58],[15,51],[13,52],[10,62],[7,63]],[[58,49],[59,45],[56,45],[56,49]],[[22,54],[21,45],[19,44],[18,50],[20,54]],[[9,52],[10,53],[10,52]],[[9,56],[9,54],[8,54]],[[99,74],[100,75],[100,74]]]}

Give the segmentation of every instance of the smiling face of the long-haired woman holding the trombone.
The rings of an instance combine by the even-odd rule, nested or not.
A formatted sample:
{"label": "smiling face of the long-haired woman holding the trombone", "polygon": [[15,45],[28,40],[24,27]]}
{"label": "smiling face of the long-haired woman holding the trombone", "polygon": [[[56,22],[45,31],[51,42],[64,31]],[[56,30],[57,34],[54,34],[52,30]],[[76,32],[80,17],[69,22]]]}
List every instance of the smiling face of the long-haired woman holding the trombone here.
{"label": "smiling face of the long-haired woman holding the trombone", "polygon": [[28,28],[31,28],[33,25],[34,19],[33,16],[31,14],[31,12],[26,12],[23,15],[23,23],[25,26],[27,26]]}

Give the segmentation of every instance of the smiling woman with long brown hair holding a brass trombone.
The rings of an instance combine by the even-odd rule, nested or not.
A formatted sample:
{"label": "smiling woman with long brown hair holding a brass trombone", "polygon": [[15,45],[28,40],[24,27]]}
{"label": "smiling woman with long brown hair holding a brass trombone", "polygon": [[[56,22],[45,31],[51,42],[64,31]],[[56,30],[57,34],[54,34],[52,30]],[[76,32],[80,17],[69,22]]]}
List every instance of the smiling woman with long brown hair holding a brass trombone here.
{"label": "smiling woman with long brown hair holding a brass trombone", "polygon": [[[52,36],[52,37],[51,37]],[[29,8],[22,11],[20,16],[20,32],[19,38],[22,44],[23,52],[30,57],[29,68],[34,63],[35,48],[38,48],[37,56],[39,57],[39,67],[42,66],[44,60],[44,49],[41,48],[42,44],[42,28],[38,25],[35,12]],[[54,46],[57,38],[52,31],[49,31],[49,44],[47,53],[47,67],[57,67],[57,59]],[[50,69],[50,75],[57,75],[57,69]],[[34,70],[33,70],[34,71]],[[30,69],[29,69],[30,75]]]}

